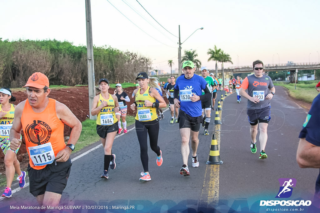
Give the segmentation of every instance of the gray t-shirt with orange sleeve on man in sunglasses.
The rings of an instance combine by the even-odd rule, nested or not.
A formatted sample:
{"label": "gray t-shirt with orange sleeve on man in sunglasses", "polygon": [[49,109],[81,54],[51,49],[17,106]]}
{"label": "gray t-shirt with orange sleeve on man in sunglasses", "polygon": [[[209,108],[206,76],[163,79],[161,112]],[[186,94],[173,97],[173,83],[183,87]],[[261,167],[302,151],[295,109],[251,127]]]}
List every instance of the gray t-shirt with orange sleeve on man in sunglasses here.
{"label": "gray t-shirt with orange sleeve on man in sunglasses", "polygon": [[254,74],[246,77],[242,84],[242,89],[248,89],[248,94],[253,96],[258,96],[260,102],[254,103],[248,100],[248,109],[262,109],[270,106],[270,101],[265,99],[265,97],[270,93],[269,89],[273,88],[272,80],[267,75],[262,75],[258,78]]}

